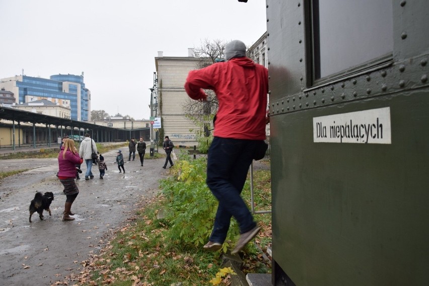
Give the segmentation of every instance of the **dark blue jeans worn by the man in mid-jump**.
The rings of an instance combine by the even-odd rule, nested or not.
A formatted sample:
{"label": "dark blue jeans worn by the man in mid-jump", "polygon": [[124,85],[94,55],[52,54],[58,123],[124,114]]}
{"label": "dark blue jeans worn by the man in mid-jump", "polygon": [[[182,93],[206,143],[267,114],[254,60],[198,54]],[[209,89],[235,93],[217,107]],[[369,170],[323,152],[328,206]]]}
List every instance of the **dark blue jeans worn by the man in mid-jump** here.
{"label": "dark blue jeans worn by the man in mid-jump", "polygon": [[208,150],[207,186],[218,199],[211,242],[223,243],[234,217],[243,234],[256,223],[241,197],[247,173],[257,147],[257,140],[215,137]]}

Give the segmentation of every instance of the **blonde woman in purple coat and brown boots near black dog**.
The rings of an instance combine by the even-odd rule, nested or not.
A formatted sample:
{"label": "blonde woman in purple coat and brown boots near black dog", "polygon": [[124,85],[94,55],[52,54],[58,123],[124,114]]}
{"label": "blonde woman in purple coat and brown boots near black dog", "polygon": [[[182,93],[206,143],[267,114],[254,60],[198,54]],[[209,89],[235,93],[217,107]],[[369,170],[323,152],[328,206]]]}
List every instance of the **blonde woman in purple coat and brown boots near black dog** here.
{"label": "blonde woman in purple coat and brown boots near black dog", "polygon": [[67,197],[62,216],[63,222],[74,220],[74,218],[70,218],[70,216],[75,215],[70,209],[79,194],[79,189],[75,182],[77,164],[82,164],[82,159],[75,147],[75,141],[65,139],[58,154],[58,179],[64,186],[64,193]]}

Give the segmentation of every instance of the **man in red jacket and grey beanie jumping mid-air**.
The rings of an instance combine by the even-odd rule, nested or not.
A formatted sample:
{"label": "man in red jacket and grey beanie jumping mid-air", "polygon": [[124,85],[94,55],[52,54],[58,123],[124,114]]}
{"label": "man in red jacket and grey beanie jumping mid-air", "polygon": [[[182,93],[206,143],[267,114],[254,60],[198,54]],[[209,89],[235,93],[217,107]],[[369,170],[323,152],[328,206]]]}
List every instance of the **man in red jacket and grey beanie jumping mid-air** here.
{"label": "man in red jacket and grey beanie jumping mid-air", "polygon": [[260,230],[240,194],[249,166],[265,139],[268,70],[246,57],[246,45],[238,40],[225,46],[225,60],[191,70],[185,90],[190,98],[205,101],[207,95],[202,89],[210,89],[219,101],[206,180],[219,206],[204,248],[222,248],[234,217],[241,234],[234,254]]}

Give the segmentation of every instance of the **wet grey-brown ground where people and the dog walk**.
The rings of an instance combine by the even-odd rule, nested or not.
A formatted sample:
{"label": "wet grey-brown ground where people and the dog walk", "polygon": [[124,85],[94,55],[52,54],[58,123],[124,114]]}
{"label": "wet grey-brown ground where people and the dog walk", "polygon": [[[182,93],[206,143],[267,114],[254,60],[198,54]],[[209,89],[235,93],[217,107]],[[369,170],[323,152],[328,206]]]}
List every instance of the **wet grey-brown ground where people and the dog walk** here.
{"label": "wet grey-brown ground where people and the dog walk", "polygon": [[[76,220],[70,222],[61,221],[65,195],[55,176],[57,159],[1,161],[0,171],[30,170],[0,181],[0,285],[50,285],[79,273],[81,262],[97,253],[142,201],[159,192],[158,181],[167,173],[162,169],[165,159],[145,160],[141,167],[137,155],[135,161],[126,161],[126,173],[119,174],[115,155],[113,150],[103,154],[108,166],[103,180],[93,165],[95,178],[86,181],[82,165],[80,192],[72,206]],[[34,213],[29,223],[36,191],[54,193],[52,216],[44,211],[41,221]]]}

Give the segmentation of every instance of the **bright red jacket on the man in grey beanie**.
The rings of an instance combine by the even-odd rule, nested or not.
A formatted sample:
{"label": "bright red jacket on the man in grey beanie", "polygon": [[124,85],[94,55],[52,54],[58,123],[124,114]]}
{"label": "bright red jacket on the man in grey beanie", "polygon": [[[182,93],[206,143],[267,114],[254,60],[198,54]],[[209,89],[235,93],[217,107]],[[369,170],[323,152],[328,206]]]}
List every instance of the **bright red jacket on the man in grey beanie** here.
{"label": "bright red jacket on the man in grey beanie", "polygon": [[190,98],[213,90],[219,101],[213,135],[235,139],[265,139],[268,70],[250,58],[237,57],[191,70],[185,90]]}

